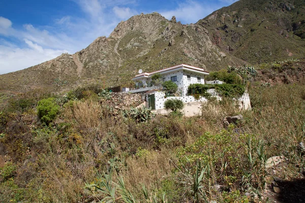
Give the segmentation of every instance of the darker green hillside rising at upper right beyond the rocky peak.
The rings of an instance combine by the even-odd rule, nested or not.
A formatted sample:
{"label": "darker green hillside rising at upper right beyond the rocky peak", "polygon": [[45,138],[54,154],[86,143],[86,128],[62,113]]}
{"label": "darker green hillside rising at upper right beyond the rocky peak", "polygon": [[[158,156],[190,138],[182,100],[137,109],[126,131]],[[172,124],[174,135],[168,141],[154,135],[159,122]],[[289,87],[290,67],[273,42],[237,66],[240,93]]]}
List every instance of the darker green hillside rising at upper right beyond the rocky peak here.
{"label": "darker green hillside rising at upper right beyond the rocky peak", "polygon": [[199,20],[225,53],[257,64],[305,55],[305,4],[240,0]]}

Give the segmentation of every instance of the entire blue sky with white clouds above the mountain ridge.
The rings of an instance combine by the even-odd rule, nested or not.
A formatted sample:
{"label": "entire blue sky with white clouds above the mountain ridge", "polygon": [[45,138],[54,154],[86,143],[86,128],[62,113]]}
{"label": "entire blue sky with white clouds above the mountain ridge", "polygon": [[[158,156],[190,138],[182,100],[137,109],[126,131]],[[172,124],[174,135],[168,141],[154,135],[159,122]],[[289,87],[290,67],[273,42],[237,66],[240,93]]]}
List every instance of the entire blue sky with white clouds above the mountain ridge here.
{"label": "entire blue sky with white clouds above the mountain ridge", "polygon": [[237,0],[0,1],[0,74],[73,54],[140,13],[195,23]]}

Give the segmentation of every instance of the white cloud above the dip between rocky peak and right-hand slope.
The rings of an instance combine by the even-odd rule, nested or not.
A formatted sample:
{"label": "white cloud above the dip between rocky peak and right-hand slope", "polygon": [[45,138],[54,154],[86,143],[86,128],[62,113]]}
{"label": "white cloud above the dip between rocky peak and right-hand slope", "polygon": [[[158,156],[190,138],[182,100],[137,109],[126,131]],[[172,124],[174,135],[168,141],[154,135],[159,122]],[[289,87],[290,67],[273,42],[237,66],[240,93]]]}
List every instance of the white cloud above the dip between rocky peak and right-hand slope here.
{"label": "white cloud above the dip between rocky peak and right-hand slope", "polygon": [[178,4],[178,7],[174,10],[161,11],[160,13],[169,20],[172,16],[175,16],[177,21],[183,19],[185,22],[195,23],[213,11],[215,11],[215,8],[208,5],[199,4],[195,1],[187,1],[186,3]]}

